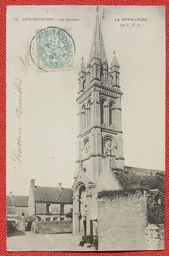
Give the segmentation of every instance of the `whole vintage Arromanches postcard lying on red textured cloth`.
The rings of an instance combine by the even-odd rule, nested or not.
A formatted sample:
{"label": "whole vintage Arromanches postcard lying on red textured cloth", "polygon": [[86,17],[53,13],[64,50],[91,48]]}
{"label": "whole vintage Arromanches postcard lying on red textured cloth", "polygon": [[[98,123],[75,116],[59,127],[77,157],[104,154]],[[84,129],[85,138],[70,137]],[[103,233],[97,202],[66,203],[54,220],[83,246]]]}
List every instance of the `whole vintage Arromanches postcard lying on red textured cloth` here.
{"label": "whole vintage Arromanches postcard lying on red textured cloth", "polygon": [[164,249],[165,7],[7,7],[7,250]]}

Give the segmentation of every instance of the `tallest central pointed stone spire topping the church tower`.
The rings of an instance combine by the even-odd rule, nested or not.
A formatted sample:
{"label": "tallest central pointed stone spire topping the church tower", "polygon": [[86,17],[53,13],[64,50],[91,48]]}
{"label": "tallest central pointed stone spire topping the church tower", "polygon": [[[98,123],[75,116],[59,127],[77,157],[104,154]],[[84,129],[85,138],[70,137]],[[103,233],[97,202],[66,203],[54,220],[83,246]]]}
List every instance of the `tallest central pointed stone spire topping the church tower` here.
{"label": "tallest central pointed stone spire topping the church tower", "polygon": [[91,44],[91,51],[90,51],[90,59],[91,61],[94,57],[100,58],[101,62],[107,62],[107,56],[103,41],[102,30],[100,27],[100,20],[99,20],[99,8],[96,7],[96,22],[94,27],[93,33],[93,40]]}

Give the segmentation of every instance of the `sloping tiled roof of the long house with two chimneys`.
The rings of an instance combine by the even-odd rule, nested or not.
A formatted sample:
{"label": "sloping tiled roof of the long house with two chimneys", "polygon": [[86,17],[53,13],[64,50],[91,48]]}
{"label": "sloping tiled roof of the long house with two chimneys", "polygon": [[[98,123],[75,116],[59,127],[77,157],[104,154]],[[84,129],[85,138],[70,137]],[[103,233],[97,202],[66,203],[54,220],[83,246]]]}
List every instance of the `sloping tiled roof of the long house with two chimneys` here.
{"label": "sloping tiled roof of the long house with two chimneys", "polygon": [[73,203],[73,189],[35,186],[35,201],[50,203]]}

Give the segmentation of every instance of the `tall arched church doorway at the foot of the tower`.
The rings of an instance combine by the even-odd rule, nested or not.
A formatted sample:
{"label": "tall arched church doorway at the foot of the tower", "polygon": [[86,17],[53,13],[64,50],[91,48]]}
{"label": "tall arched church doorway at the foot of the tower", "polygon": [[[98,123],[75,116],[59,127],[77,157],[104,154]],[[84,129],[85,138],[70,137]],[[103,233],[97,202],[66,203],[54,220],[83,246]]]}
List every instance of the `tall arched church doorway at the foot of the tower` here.
{"label": "tall arched church doorway at the foot of the tower", "polygon": [[86,236],[86,211],[87,211],[87,198],[86,187],[84,184],[79,186],[78,191],[78,219],[79,219],[79,234]]}

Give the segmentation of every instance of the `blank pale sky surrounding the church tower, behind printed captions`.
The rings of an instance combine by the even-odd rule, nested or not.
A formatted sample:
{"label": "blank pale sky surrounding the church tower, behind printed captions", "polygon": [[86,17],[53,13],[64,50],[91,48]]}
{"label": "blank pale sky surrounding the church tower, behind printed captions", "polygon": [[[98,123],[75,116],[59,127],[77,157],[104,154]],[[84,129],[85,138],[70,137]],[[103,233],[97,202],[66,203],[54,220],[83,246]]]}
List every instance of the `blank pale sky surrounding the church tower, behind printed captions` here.
{"label": "blank pale sky surrounding the church tower, behind printed captions", "polygon": [[[81,56],[89,59],[95,7],[11,7],[7,43],[7,193],[29,195],[30,179],[36,185],[73,185],[77,160],[78,68]],[[48,9],[48,12],[47,12]],[[105,7],[102,20],[109,65],[113,50],[120,64],[125,165],[164,170],[165,151],[165,9],[164,7]],[[19,17],[17,23],[14,17]],[[22,22],[22,17],[79,18],[79,22]],[[121,27],[115,18],[148,18],[141,27]],[[131,22],[130,24],[132,24]],[[127,24],[127,22],[125,22]],[[137,24],[137,23],[136,23]],[[28,75],[20,69],[26,39],[35,29],[71,27],[76,44],[74,71]],[[11,44],[12,42],[12,44]],[[14,77],[22,79],[23,115],[18,121],[18,94]],[[15,94],[16,92],[16,94]],[[11,160],[17,130],[22,129],[21,163]],[[14,168],[15,167],[15,168]]]}

